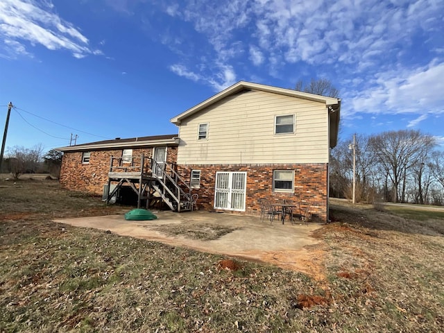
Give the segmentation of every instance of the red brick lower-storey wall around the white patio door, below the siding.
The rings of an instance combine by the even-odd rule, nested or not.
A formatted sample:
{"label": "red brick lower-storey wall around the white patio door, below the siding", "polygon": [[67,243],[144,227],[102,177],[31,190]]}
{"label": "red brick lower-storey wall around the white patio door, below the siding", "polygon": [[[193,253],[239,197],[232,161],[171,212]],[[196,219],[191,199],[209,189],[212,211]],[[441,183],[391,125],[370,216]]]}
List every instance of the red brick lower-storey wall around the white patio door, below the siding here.
{"label": "red brick lower-storey wall around the white patio door, below the siding", "polygon": [[[259,198],[272,201],[293,200],[302,207],[311,205],[314,218],[327,220],[327,164],[212,164],[178,165],[178,173],[190,179],[191,170],[200,170],[198,208],[214,210],[214,186],[216,171],[246,171],[246,214],[259,214]],[[294,170],[294,192],[273,192],[273,170]]]}

